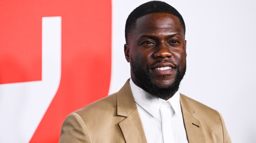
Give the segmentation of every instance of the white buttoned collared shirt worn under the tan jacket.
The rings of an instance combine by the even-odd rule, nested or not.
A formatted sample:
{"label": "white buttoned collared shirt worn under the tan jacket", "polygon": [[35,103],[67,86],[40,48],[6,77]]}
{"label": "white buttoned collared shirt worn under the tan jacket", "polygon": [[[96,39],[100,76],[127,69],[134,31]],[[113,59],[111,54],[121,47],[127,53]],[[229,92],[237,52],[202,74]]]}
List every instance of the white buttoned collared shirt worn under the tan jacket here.
{"label": "white buttoned collared shirt worn under the tan jacket", "polygon": [[179,92],[168,100],[155,99],[131,79],[130,86],[148,143],[188,143]]}

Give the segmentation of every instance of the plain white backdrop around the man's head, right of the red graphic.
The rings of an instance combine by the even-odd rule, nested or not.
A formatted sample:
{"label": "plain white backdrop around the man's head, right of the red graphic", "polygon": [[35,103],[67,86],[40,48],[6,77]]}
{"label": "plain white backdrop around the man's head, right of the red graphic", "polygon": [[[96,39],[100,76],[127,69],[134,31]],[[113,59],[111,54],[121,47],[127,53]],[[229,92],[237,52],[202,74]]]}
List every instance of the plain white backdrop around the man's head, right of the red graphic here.
{"label": "plain white backdrop around the man's head, right of the red graphic", "polygon": [[[146,0],[112,0],[109,94],[130,77],[125,21]],[[180,92],[218,110],[233,143],[256,142],[256,1],[172,1],[186,25],[187,72]]]}

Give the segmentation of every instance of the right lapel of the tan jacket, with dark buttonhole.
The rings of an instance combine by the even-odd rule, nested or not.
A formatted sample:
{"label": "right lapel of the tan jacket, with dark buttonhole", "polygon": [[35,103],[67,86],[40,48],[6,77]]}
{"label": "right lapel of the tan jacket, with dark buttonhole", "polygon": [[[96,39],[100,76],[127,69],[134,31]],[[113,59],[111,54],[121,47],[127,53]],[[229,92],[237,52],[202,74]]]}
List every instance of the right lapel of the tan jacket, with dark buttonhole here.
{"label": "right lapel of the tan jacket, with dark buttonhole", "polygon": [[189,102],[182,94],[180,95],[180,105],[188,141],[191,143],[205,142],[203,127],[195,117],[195,110],[193,106],[189,106]]}

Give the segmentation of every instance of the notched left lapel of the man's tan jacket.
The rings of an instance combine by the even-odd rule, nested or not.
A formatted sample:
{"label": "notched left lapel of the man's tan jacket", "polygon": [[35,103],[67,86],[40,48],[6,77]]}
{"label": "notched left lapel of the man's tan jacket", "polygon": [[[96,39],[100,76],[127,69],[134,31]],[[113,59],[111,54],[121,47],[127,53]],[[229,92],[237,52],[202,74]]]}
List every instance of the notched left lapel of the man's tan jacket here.
{"label": "notched left lapel of the man's tan jacket", "polygon": [[117,93],[117,115],[126,117],[119,127],[127,143],[147,142],[129,80]]}

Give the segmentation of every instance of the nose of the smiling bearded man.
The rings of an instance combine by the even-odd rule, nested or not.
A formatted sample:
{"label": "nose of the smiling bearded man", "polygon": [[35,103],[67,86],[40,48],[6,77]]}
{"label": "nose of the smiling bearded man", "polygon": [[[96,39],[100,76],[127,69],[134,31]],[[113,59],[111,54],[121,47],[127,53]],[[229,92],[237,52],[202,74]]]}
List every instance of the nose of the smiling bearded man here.
{"label": "nose of the smiling bearded man", "polygon": [[170,51],[170,47],[166,44],[160,44],[158,47],[154,47],[154,58],[170,58],[172,57],[172,52]]}

